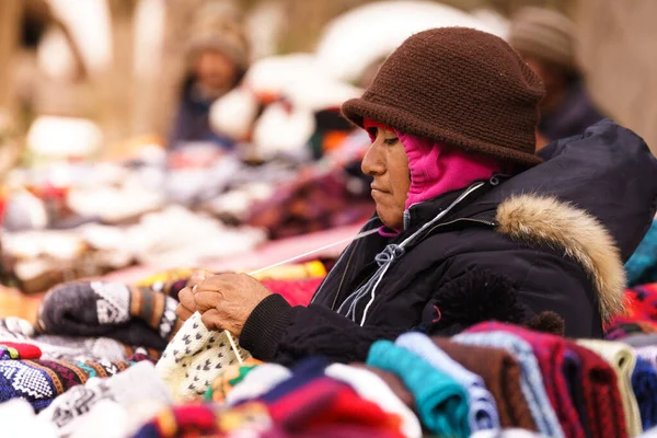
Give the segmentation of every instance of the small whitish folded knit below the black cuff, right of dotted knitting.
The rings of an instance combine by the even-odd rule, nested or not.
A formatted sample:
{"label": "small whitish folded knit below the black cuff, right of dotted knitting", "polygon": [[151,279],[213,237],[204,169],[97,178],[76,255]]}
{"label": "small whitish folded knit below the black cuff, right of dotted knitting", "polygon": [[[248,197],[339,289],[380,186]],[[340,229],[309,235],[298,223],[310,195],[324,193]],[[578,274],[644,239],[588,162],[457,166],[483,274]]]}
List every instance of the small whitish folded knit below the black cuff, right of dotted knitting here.
{"label": "small whitish folded knit below the black cuff, right of dotted knitting", "polygon": [[234,406],[257,399],[291,377],[292,371],[281,365],[261,365],[249,372],[242,382],[226,395],[226,404]]}

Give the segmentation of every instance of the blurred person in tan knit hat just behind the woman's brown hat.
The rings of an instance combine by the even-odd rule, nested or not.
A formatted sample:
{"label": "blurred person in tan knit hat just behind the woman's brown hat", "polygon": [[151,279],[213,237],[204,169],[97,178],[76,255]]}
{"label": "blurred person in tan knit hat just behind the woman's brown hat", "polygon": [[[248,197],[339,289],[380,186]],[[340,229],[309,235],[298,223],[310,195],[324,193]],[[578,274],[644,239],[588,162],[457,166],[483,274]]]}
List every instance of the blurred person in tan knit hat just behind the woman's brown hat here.
{"label": "blurred person in tan knit hat just behind the woman's brown hat", "polygon": [[548,141],[581,134],[604,117],[578,71],[572,27],[567,16],[531,7],[521,9],[510,24],[509,44],[545,85],[539,132]]}

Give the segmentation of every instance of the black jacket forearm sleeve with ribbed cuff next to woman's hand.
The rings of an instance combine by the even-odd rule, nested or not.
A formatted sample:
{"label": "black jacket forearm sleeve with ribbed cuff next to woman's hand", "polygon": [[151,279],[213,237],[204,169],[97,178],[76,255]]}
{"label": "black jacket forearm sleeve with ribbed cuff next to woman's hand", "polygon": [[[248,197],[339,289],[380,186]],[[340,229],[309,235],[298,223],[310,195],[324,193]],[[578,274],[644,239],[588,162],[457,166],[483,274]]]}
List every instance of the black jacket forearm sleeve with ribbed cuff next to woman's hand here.
{"label": "black jacket forearm sleeve with ribbed cuff next to woman's hand", "polygon": [[394,339],[403,328],[361,327],[323,306],[291,307],[279,295],[265,298],[251,313],[240,344],[256,359],[290,365],[312,355],[333,361],[365,361],[377,339]]}

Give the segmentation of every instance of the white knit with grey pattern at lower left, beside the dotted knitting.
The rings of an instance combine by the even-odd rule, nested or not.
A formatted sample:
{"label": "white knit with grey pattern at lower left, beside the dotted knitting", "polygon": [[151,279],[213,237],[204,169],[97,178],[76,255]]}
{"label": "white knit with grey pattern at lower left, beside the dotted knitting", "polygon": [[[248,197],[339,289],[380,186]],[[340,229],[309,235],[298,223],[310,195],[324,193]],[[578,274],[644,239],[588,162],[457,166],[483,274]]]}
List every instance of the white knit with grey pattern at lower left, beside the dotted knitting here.
{"label": "white knit with grey pattern at lower left, beside the dotted knitting", "polygon": [[87,384],[71,388],[39,414],[60,429],[71,434],[81,417],[101,400],[117,402],[125,408],[142,400],[171,402],[171,395],[150,362],[140,362],[110,379],[90,379]]}

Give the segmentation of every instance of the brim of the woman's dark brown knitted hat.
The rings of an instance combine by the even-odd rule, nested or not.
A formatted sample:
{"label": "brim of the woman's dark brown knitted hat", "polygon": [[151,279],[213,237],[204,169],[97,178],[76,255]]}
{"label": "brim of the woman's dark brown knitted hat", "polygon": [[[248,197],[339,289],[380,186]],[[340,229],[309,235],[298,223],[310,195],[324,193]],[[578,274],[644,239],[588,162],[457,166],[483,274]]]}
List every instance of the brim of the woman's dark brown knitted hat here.
{"label": "brim of the woman's dark brown knitted hat", "polygon": [[417,116],[389,105],[381,105],[364,99],[350,99],[342,106],[343,115],[353,124],[364,128],[364,118],[369,118],[394,129],[419,137],[441,141],[466,152],[479,152],[506,162],[518,164],[525,169],[541,164],[540,157],[520,150],[505,148],[480,139],[470,138],[461,132],[441,129],[433,124],[419,120]]}

